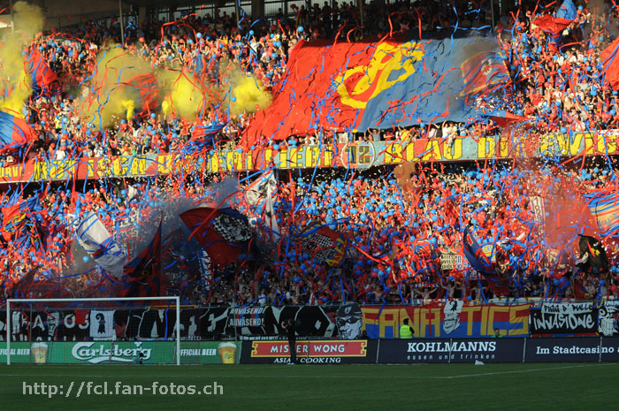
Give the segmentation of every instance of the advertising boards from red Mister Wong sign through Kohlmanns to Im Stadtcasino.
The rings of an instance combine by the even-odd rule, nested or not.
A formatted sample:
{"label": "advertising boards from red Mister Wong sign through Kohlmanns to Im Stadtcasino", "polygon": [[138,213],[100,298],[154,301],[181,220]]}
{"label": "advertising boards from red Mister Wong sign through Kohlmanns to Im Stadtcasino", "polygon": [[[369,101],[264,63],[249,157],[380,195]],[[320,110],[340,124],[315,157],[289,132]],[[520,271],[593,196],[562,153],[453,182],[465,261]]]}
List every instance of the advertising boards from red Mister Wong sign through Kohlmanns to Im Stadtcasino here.
{"label": "advertising boards from red Mister Wong sign through Kohlmanns to Im Stadtcasino", "polygon": [[[619,338],[298,341],[301,363],[619,362]],[[286,363],[287,341],[243,341],[241,363]]]}

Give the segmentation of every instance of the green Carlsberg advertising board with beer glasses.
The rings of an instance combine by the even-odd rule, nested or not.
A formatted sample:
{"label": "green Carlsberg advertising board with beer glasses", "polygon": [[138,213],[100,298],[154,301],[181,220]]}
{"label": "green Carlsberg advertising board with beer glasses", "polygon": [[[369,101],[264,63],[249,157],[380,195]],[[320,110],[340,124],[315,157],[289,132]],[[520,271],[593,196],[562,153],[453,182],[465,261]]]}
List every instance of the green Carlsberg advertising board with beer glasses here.
{"label": "green Carlsberg advertising board with beer glasses", "polygon": [[[239,346],[234,341],[181,341],[181,364],[234,364]],[[0,363],[6,362],[6,342],[0,343]],[[174,341],[13,342],[11,363],[36,364],[143,364],[176,362]]]}

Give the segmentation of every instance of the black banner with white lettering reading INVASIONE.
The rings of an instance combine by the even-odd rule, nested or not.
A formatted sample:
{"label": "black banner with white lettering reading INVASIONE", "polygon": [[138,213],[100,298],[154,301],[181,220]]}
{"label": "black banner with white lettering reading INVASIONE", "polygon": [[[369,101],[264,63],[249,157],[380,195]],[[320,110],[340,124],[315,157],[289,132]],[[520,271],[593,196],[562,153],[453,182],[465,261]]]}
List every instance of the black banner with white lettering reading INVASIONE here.
{"label": "black banner with white lettering reading INVASIONE", "polygon": [[595,335],[597,331],[598,308],[592,303],[544,303],[529,312],[531,335]]}

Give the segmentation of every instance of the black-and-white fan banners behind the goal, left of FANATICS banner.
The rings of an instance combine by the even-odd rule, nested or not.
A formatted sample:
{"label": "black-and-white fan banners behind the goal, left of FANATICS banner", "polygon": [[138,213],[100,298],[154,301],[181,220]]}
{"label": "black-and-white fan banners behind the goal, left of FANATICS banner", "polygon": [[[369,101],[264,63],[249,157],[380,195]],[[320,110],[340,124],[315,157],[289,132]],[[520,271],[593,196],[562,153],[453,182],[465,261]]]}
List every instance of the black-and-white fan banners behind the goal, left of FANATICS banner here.
{"label": "black-and-white fan banners behind the goal, left of FANATICS banner", "polygon": [[[184,341],[230,338],[277,339],[282,322],[293,320],[299,337],[355,339],[361,334],[361,308],[333,307],[188,308],[180,311]],[[0,341],[6,338],[6,311],[0,310]],[[172,308],[11,310],[13,341],[174,339]]]}

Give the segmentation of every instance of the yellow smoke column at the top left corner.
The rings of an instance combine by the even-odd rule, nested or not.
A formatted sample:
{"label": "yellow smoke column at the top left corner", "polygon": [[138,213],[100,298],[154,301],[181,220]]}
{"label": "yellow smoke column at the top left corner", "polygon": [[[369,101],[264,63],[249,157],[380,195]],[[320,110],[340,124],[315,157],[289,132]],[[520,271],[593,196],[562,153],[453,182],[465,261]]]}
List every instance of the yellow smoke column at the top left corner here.
{"label": "yellow smoke column at the top left corner", "polygon": [[21,110],[32,93],[32,80],[22,52],[26,52],[27,45],[41,33],[43,14],[39,7],[26,2],[16,3],[13,11],[15,34],[0,46],[0,80],[7,90],[0,96],[0,110],[22,117]]}

